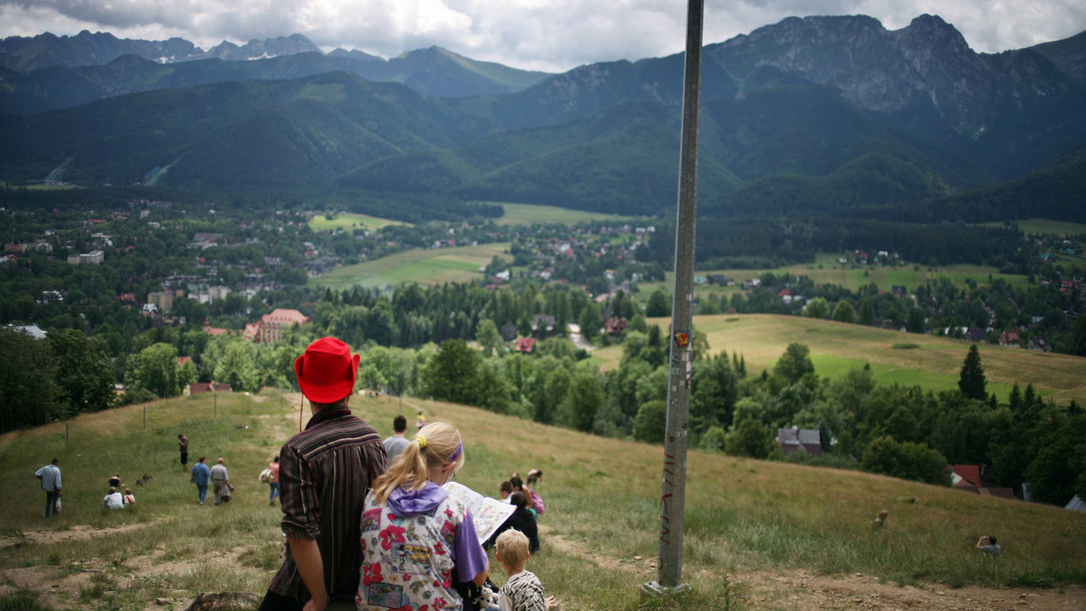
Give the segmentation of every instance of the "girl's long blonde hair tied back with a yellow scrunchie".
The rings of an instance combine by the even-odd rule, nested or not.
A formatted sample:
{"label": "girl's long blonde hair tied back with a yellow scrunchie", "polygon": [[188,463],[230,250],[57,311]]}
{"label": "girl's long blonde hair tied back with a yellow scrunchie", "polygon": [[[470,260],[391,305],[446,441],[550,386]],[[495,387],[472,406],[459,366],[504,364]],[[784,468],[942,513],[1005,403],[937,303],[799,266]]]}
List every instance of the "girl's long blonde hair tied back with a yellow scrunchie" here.
{"label": "girl's long blonde hair tied back with a yellow scrunchie", "polygon": [[[426,440],[425,442],[422,440]],[[429,469],[454,462],[464,467],[460,432],[447,422],[431,422],[400,453],[381,476],[374,481],[374,497],[380,504],[397,487],[417,491],[426,485]]]}

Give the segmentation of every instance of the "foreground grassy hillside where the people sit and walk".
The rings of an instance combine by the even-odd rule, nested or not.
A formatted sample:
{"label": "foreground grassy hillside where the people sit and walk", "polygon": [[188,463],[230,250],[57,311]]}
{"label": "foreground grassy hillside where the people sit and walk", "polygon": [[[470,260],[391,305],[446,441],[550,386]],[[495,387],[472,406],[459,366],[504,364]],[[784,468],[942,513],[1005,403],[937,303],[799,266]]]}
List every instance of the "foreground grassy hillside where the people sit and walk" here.
{"label": "foreground grassy hillside where the people sit and walk", "polygon": [[[213,403],[217,402],[217,403]],[[510,471],[542,469],[542,549],[529,560],[566,611],[633,609],[1081,609],[1086,514],[850,471],[691,451],[682,582],[692,591],[645,601],[656,578],[660,446],[594,437],[449,404],[355,398],[355,413],[391,433],[395,413],[424,409],[460,428],[457,481],[484,494]],[[262,594],[279,565],[280,512],[256,481],[299,425],[299,396],[220,394],[85,415],[0,436],[0,609],[185,609],[198,593]],[[65,430],[70,442],[65,444]],[[227,506],[201,507],[179,471],[223,456]],[[41,518],[30,476],[52,456],[64,509]],[[138,504],[101,507],[119,471]],[[873,531],[880,509],[887,526]],[[998,534],[1003,556],[972,546]],[[493,557],[491,576],[505,575]],[[156,606],[156,599],[165,604]]]}

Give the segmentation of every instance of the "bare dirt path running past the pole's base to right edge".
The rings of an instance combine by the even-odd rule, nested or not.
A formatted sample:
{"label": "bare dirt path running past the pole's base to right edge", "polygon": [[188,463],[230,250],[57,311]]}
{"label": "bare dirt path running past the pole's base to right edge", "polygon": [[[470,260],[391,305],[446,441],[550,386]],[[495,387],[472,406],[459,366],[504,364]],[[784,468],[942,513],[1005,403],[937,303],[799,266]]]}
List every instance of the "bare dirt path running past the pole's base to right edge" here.
{"label": "bare dirt path running past the pole's base to right edge", "polygon": [[[586,558],[596,565],[626,571],[639,580],[656,578],[656,559],[611,558],[596,553],[580,542],[571,540],[546,524],[540,535],[547,546],[564,553]],[[698,576],[714,577],[705,571]],[[810,571],[755,571],[729,575],[737,593],[737,602],[746,610],[782,609],[794,611],[896,611],[901,609],[947,609],[955,611],[1084,611],[1086,588],[1066,586],[1053,589],[985,588],[967,586],[897,586],[879,577],[850,573],[821,575]],[[566,609],[564,606],[563,609]],[[570,608],[568,611],[576,611]]]}

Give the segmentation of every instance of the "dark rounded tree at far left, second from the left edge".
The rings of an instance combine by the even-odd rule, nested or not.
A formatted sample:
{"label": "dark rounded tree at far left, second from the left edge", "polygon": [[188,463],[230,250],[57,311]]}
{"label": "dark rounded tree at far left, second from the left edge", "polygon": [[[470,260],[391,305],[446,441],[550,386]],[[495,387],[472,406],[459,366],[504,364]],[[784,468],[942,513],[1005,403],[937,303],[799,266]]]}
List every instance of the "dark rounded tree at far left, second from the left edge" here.
{"label": "dark rounded tree at far left, second from the left edge", "polygon": [[67,404],[70,413],[99,411],[113,405],[113,369],[97,340],[75,329],[52,331],[47,340],[56,357],[60,400]]}

